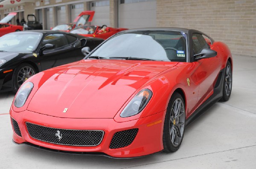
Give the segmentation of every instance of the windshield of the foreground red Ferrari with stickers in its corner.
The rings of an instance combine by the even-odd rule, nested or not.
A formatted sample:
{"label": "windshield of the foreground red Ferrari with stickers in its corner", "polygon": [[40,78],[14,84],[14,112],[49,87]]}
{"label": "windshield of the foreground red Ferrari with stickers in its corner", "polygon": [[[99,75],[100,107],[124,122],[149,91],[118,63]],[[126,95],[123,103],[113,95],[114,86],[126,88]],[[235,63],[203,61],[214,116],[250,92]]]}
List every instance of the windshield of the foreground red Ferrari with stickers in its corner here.
{"label": "windshield of the foreground red Ferrari with stickers in its corner", "polygon": [[109,39],[90,56],[186,62],[186,34],[178,31],[125,32]]}

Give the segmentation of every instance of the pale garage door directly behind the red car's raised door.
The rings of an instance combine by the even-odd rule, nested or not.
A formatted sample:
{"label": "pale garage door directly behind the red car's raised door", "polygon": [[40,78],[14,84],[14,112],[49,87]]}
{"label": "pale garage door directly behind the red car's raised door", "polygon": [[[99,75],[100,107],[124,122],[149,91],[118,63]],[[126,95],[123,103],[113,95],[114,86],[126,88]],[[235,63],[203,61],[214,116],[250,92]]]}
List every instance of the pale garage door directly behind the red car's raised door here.
{"label": "pale garage door directly behind the red car's raised door", "polygon": [[92,25],[109,25],[109,0],[100,0],[90,3],[90,10],[95,11]]}

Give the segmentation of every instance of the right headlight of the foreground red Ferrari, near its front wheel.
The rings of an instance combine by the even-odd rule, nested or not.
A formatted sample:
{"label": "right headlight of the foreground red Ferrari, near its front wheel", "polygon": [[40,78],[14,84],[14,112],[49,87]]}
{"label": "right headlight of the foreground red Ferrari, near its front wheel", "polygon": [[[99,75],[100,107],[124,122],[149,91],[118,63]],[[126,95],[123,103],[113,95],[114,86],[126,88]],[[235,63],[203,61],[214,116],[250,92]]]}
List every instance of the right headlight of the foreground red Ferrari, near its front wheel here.
{"label": "right headlight of the foreground red Ferrari, near its front wheel", "polygon": [[140,113],[151,99],[152,92],[149,89],[141,90],[122,110],[121,117],[130,117]]}

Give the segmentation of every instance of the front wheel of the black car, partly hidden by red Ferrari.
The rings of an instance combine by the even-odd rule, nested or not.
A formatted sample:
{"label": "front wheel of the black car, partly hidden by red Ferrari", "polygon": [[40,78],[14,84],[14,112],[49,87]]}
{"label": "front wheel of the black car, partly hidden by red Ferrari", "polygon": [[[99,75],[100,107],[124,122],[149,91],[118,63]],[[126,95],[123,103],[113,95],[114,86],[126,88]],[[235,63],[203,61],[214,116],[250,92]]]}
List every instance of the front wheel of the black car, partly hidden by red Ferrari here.
{"label": "front wheel of the black car, partly hidden by red Ferrari", "polygon": [[29,77],[36,74],[35,68],[28,64],[28,63],[22,63],[20,64],[14,71],[13,77],[12,77],[12,85],[13,85],[13,91],[16,93],[20,86],[27,80]]}

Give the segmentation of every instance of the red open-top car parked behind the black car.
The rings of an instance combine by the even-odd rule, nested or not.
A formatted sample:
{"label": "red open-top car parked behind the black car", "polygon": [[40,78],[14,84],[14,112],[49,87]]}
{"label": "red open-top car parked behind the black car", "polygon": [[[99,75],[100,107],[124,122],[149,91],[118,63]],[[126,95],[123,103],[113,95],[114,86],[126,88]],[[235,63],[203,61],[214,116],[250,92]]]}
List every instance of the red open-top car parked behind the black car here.
{"label": "red open-top car parked behind the black car", "polygon": [[70,33],[72,34],[80,34],[85,37],[98,37],[102,39],[108,39],[113,34],[116,34],[120,31],[127,30],[126,28],[111,28],[107,25],[97,26],[97,25],[85,25],[79,26]]}

